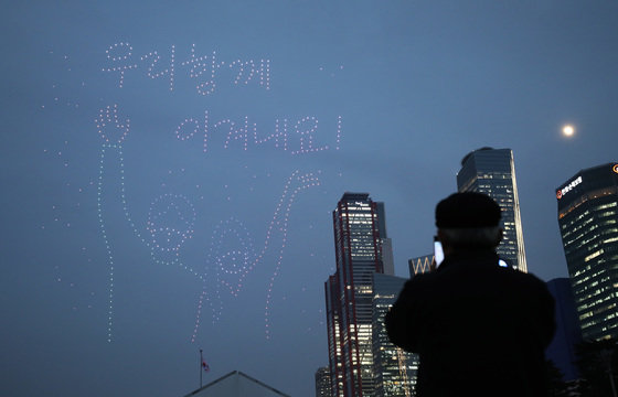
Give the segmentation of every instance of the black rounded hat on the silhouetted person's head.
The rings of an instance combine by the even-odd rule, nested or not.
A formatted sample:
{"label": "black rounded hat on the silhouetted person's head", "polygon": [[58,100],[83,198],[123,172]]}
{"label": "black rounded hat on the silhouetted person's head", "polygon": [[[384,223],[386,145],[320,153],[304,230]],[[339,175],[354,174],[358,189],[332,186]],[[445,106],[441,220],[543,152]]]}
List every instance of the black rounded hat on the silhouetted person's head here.
{"label": "black rounded hat on the silhouetted person's head", "polygon": [[438,228],[492,227],[500,223],[500,206],[487,194],[455,193],[436,206]]}

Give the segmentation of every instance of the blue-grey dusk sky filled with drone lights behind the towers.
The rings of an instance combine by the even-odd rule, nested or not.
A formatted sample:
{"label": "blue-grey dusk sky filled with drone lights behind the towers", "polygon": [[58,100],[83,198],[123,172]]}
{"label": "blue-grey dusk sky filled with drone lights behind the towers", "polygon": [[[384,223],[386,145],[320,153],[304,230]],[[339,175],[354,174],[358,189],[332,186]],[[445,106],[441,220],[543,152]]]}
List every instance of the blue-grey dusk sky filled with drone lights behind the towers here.
{"label": "blue-grey dusk sky filled with drone lights behind the towers", "polygon": [[[515,159],[529,271],[555,189],[618,161],[615,1],[4,1],[2,396],[312,396],[342,194],[395,272],[481,147]],[[573,137],[562,133],[564,125]]]}

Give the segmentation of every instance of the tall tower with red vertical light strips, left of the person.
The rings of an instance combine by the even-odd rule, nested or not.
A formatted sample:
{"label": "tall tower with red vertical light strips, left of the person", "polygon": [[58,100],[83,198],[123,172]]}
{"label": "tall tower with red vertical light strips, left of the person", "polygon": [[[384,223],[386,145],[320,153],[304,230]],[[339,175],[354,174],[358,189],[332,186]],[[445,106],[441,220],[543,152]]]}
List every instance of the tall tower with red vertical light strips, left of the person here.
{"label": "tall tower with red vertical light strips, left of the person", "polygon": [[384,272],[384,205],[345,193],[332,221],[337,271],[324,285],[332,395],[373,396],[372,276]]}

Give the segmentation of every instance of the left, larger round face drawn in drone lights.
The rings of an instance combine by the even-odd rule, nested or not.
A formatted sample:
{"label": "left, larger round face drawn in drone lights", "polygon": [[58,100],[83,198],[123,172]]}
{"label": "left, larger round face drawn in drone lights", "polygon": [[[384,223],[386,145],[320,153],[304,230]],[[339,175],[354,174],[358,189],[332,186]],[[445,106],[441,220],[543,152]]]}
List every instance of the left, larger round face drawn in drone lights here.
{"label": "left, larger round face drawn in drone lights", "polygon": [[147,230],[156,255],[178,256],[182,244],[192,237],[195,210],[183,195],[163,194],[150,205]]}

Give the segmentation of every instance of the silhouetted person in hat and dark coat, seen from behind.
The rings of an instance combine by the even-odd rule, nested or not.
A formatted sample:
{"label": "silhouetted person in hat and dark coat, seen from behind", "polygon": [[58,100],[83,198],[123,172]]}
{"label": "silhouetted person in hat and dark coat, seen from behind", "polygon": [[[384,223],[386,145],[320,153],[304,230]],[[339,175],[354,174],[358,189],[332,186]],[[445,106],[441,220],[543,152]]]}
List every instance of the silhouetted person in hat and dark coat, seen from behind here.
{"label": "silhouetted person in hat and dark coat, seen from behind", "polygon": [[536,277],[499,266],[499,223],[500,207],[484,194],[443,200],[445,260],[407,281],[386,314],[391,341],[419,354],[418,397],[546,396],[554,300]]}

